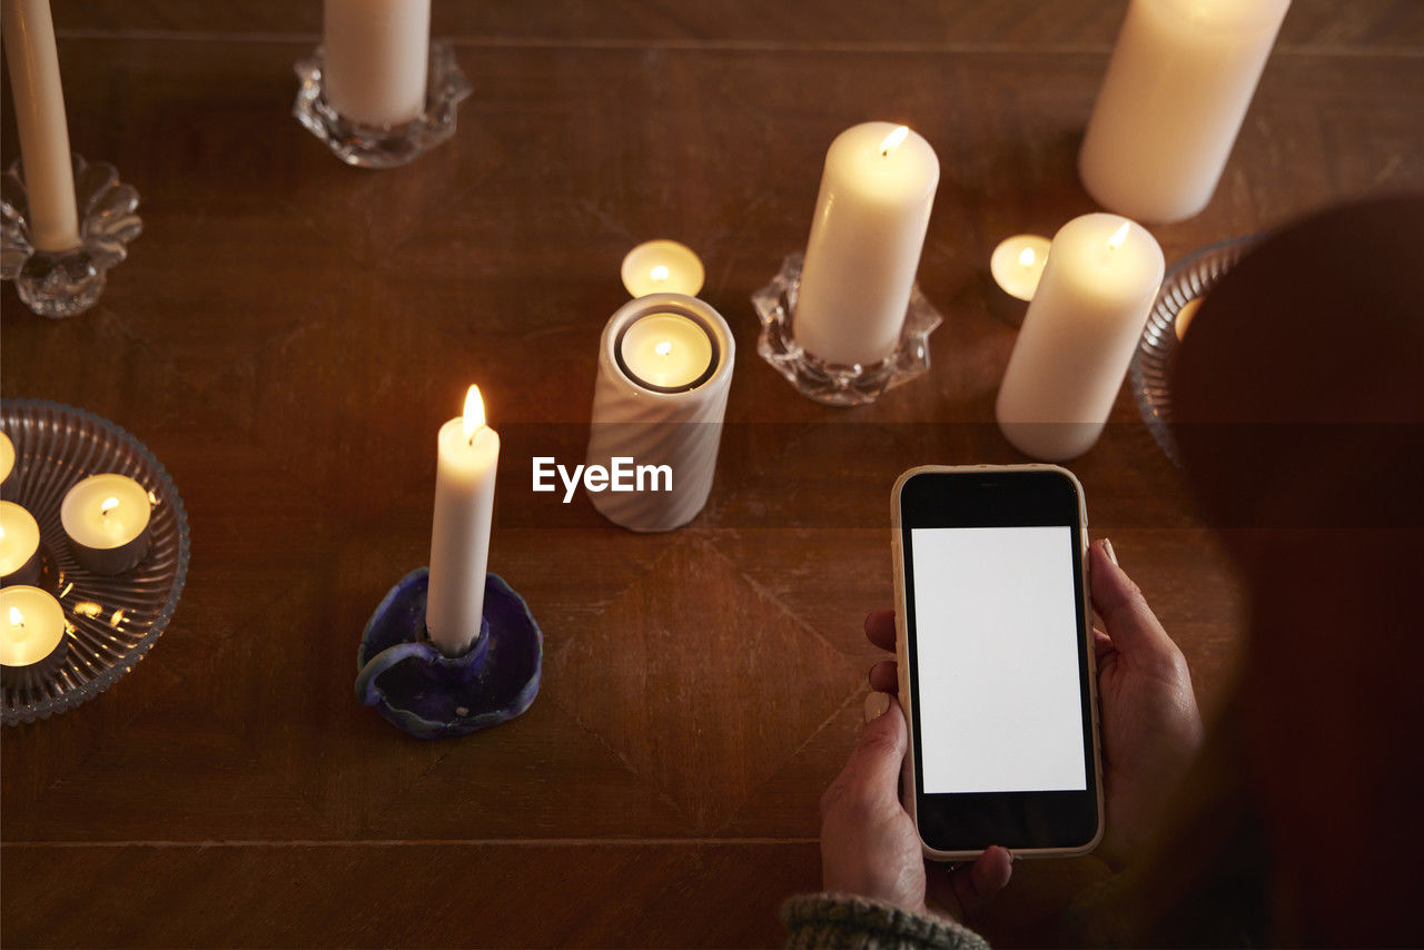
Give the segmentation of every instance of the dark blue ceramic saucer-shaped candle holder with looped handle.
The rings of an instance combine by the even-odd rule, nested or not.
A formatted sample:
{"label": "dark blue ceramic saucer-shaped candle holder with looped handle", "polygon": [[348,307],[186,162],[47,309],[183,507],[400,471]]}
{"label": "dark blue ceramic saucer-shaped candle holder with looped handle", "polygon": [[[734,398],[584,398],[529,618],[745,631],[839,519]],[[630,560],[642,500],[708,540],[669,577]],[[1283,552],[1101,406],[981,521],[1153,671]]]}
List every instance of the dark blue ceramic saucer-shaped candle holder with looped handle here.
{"label": "dark blue ceramic saucer-shaped candle holder with looped handle", "polygon": [[480,635],[464,655],[446,657],[426,634],[429,587],[430,568],[416,568],[376,607],[356,652],[356,698],[417,739],[488,729],[528,709],[544,635],[524,598],[487,574]]}

